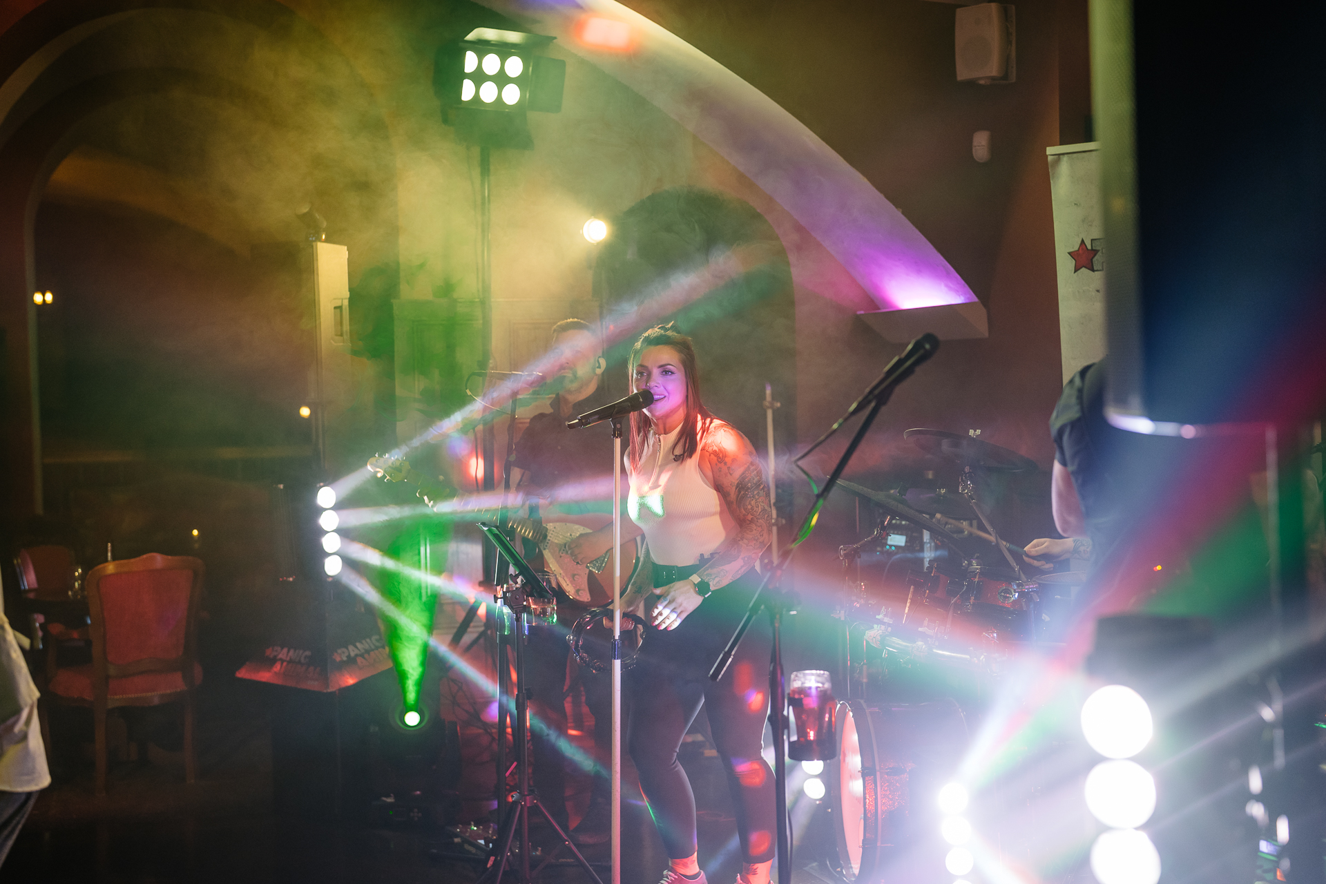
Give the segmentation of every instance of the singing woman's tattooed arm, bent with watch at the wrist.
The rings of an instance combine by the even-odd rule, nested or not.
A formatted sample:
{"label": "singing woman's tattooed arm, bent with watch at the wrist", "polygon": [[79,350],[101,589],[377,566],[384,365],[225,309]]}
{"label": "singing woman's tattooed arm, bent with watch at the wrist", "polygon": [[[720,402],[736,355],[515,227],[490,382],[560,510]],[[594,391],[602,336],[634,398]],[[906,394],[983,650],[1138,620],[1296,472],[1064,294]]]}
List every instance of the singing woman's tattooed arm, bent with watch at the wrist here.
{"label": "singing woman's tattooed arm, bent with watch at the wrist", "polygon": [[754,567],[760,554],[769,546],[773,521],[769,485],[754,448],[745,436],[728,425],[707,433],[700,449],[700,470],[713,484],[737,524],[736,533],[700,569],[700,578],[717,590]]}

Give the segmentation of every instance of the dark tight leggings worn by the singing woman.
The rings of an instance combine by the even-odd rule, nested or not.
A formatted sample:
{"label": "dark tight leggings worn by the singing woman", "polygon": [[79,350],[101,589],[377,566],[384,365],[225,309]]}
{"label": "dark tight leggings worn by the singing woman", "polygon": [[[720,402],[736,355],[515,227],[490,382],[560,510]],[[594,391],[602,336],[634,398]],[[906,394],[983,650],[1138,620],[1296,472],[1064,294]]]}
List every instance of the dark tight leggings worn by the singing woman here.
{"label": "dark tight leggings worn by the singing woman", "polygon": [[749,575],[715,590],[682,626],[648,628],[642,659],[626,673],[629,747],[640,789],[671,859],[695,854],[695,794],[678,763],[682,738],[703,705],[728,775],[747,863],[773,859],[773,771],[760,754],[769,713],[769,630],[756,622],[717,683],[708,671],[732,636],[757,584]]}

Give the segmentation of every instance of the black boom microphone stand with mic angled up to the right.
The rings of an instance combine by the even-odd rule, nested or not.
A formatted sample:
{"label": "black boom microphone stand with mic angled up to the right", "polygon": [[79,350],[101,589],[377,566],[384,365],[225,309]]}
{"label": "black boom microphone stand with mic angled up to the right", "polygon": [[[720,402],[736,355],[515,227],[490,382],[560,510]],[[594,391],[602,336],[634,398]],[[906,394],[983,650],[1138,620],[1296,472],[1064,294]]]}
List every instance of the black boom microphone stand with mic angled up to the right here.
{"label": "black boom microphone stand with mic angled up to the right", "polygon": [[[833,472],[829,473],[829,478],[825,480],[823,488],[818,490],[814,501],[810,504],[810,509],[806,512],[805,518],[801,521],[801,526],[797,529],[796,535],[792,542],[778,554],[774,559],[774,565],[765,574],[764,580],[760,582],[760,587],[756,590],[754,596],[751,599],[749,607],[747,607],[745,615],[741,618],[741,623],[737,624],[736,632],[728,639],[728,644],[723,648],[719,659],[713,661],[713,667],[709,669],[709,680],[719,681],[723,675],[728,671],[732,664],[732,657],[736,656],[737,647],[741,644],[741,639],[745,636],[751,623],[754,620],[760,610],[769,612],[769,627],[773,632],[773,644],[769,655],[769,724],[773,729],[773,783],[774,783],[774,807],[777,815],[777,857],[778,857],[778,884],[792,884],[792,839],[790,827],[788,824],[788,765],[786,765],[786,751],[788,751],[788,697],[782,680],[782,612],[788,608],[788,596],[790,592],[782,587],[782,575],[792,563],[792,555],[797,546],[810,535],[814,529],[815,518],[819,516],[819,509],[823,506],[825,500],[827,500],[829,493],[833,486],[838,482],[842,472],[847,468],[847,463],[851,456],[857,453],[857,448],[861,447],[862,440],[866,437],[866,432],[870,431],[870,425],[875,423],[875,417],[879,411],[884,407],[884,403],[892,396],[894,390],[903,380],[910,378],[916,367],[934,355],[935,350],[939,349],[939,338],[932,334],[926,334],[912,341],[907,350],[902,355],[895,358],[892,362],[884,367],[883,374],[875,380],[874,384],[861,396],[857,402],[851,404],[847,414],[838,419],[838,421],[829,428],[829,431],[821,436],[810,448],[797,456],[796,461],[801,461],[810,452],[823,444],[830,436],[833,436],[849,417],[857,412],[865,410],[867,406],[870,411],[862,419],[861,425],[857,428],[857,433],[847,443],[847,448],[843,451],[838,463],[834,465]],[[621,459],[618,459],[621,461]],[[772,587],[772,588],[770,588]],[[765,590],[769,590],[768,595]],[[619,604],[619,603],[618,603]],[[614,663],[614,665],[617,665]],[[615,884],[615,883],[614,883]]]}

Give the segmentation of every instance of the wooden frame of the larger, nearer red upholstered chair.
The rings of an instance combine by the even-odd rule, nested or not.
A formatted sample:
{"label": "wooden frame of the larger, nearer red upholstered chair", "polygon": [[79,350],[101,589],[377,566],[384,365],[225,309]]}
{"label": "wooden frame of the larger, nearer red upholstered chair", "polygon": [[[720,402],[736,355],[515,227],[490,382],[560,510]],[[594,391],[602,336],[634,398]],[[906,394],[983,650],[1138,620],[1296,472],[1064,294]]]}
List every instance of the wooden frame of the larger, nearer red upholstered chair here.
{"label": "wooden frame of the larger, nearer red upholstered chair", "polygon": [[[131,574],[137,571],[192,571],[190,583],[188,612],[184,620],[184,652],[171,660],[145,659],[126,665],[106,660],[106,619],[102,608],[101,580],[111,574]],[[198,607],[203,595],[204,567],[200,559],[190,555],[162,555],[149,553],[134,559],[106,562],[94,567],[84,579],[88,590],[88,608],[91,624],[88,627],[91,637],[91,693],[89,702],[80,697],[64,697],[52,691],[46,696],[58,702],[91,706],[93,729],[97,753],[97,795],[106,794],[106,712],[117,706],[156,706],[176,700],[184,704],[184,782],[195,781],[196,759],[194,755],[194,713],[198,684],[194,681],[194,667],[198,663]],[[123,679],[145,672],[179,672],[184,680],[183,691],[151,693],[137,697],[111,697],[110,679]],[[53,675],[53,673],[52,673]]]}

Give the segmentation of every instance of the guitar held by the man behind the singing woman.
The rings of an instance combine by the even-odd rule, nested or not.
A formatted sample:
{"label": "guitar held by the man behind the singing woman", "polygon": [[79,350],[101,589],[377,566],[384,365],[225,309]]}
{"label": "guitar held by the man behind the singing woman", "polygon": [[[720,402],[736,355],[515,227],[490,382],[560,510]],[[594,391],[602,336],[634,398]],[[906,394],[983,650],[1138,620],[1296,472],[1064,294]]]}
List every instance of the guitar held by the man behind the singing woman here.
{"label": "guitar held by the man behind the singing woman", "polygon": [[[410,465],[410,461],[394,457],[373,457],[369,460],[369,469],[389,482],[404,482],[418,489],[419,497],[428,506],[439,501],[455,497],[455,490],[444,488],[432,481],[428,476]],[[481,518],[497,518],[499,512],[492,508],[475,509],[468,513],[475,521]],[[590,516],[586,521],[602,521],[605,517]],[[520,516],[507,516],[504,525],[516,531],[520,537],[533,542],[544,554],[544,565],[549,573],[557,578],[554,588],[561,590],[569,598],[582,604],[594,607],[611,604],[613,587],[599,578],[599,574],[611,561],[611,550],[605,551],[589,563],[578,562],[570,551],[572,542],[602,525],[582,525],[570,520],[533,520]],[[635,567],[635,542],[622,545],[622,586],[626,586]]]}

